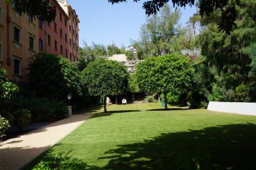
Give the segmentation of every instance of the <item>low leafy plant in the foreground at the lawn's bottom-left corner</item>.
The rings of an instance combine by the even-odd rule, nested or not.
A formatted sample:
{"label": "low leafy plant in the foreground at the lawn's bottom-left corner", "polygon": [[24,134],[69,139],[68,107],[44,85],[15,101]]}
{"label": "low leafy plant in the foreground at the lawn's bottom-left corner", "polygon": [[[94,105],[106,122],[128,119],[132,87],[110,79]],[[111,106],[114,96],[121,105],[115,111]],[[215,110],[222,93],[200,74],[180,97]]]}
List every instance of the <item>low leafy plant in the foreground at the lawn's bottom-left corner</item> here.
{"label": "low leafy plant in the foreground at the lawn's bottom-left corner", "polygon": [[41,161],[32,170],[84,170],[89,167],[81,159],[69,157],[69,153],[57,153],[53,161]]}

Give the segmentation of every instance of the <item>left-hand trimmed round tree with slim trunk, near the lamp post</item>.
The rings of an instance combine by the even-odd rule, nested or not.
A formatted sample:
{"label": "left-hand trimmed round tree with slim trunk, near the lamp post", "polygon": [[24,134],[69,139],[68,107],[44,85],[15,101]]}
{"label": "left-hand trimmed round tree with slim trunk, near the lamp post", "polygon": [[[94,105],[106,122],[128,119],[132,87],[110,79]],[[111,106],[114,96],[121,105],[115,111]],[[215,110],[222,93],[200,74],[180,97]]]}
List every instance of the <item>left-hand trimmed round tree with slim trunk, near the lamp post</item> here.
{"label": "left-hand trimmed round tree with slim trunk, near the lamp post", "polygon": [[128,89],[129,73],[127,68],[114,60],[99,59],[88,64],[82,71],[84,85],[88,93],[104,98],[104,112],[106,113],[106,97],[121,95]]}

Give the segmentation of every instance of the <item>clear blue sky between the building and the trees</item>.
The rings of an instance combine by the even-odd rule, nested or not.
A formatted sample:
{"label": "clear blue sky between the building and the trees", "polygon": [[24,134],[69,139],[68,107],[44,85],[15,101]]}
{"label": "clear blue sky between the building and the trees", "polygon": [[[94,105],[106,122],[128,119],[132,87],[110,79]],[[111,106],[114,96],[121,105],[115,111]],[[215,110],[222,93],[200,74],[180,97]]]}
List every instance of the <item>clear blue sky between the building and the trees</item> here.
{"label": "clear blue sky between the building and the trees", "polygon": [[[130,38],[137,40],[141,25],[146,22],[146,15],[142,9],[143,0],[133,3],[112,5],[108,0],[69,0],[75,9],[79,20],[79,46],[88,44],[112,44],[117,46],[129,45]],[[193,13],[195,7],[187,6],[181,9],[181,24],[185,23]]]}

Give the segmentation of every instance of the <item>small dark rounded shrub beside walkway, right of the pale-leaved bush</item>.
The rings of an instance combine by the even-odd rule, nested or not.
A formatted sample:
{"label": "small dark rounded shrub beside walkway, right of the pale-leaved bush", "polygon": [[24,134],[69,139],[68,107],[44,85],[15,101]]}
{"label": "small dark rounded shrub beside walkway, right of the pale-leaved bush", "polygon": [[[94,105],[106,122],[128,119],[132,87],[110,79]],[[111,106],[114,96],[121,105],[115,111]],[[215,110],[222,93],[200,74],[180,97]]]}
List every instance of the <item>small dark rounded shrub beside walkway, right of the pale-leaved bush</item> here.
{"label": "small dark rounded shrub beside walkway, right of the pale-leaved bush", "polygon": [[17,124],[20,130],[23,130],[25,126],[31,122],[31,112],[27,109],[18,110],[15,112],[15,124]]}

